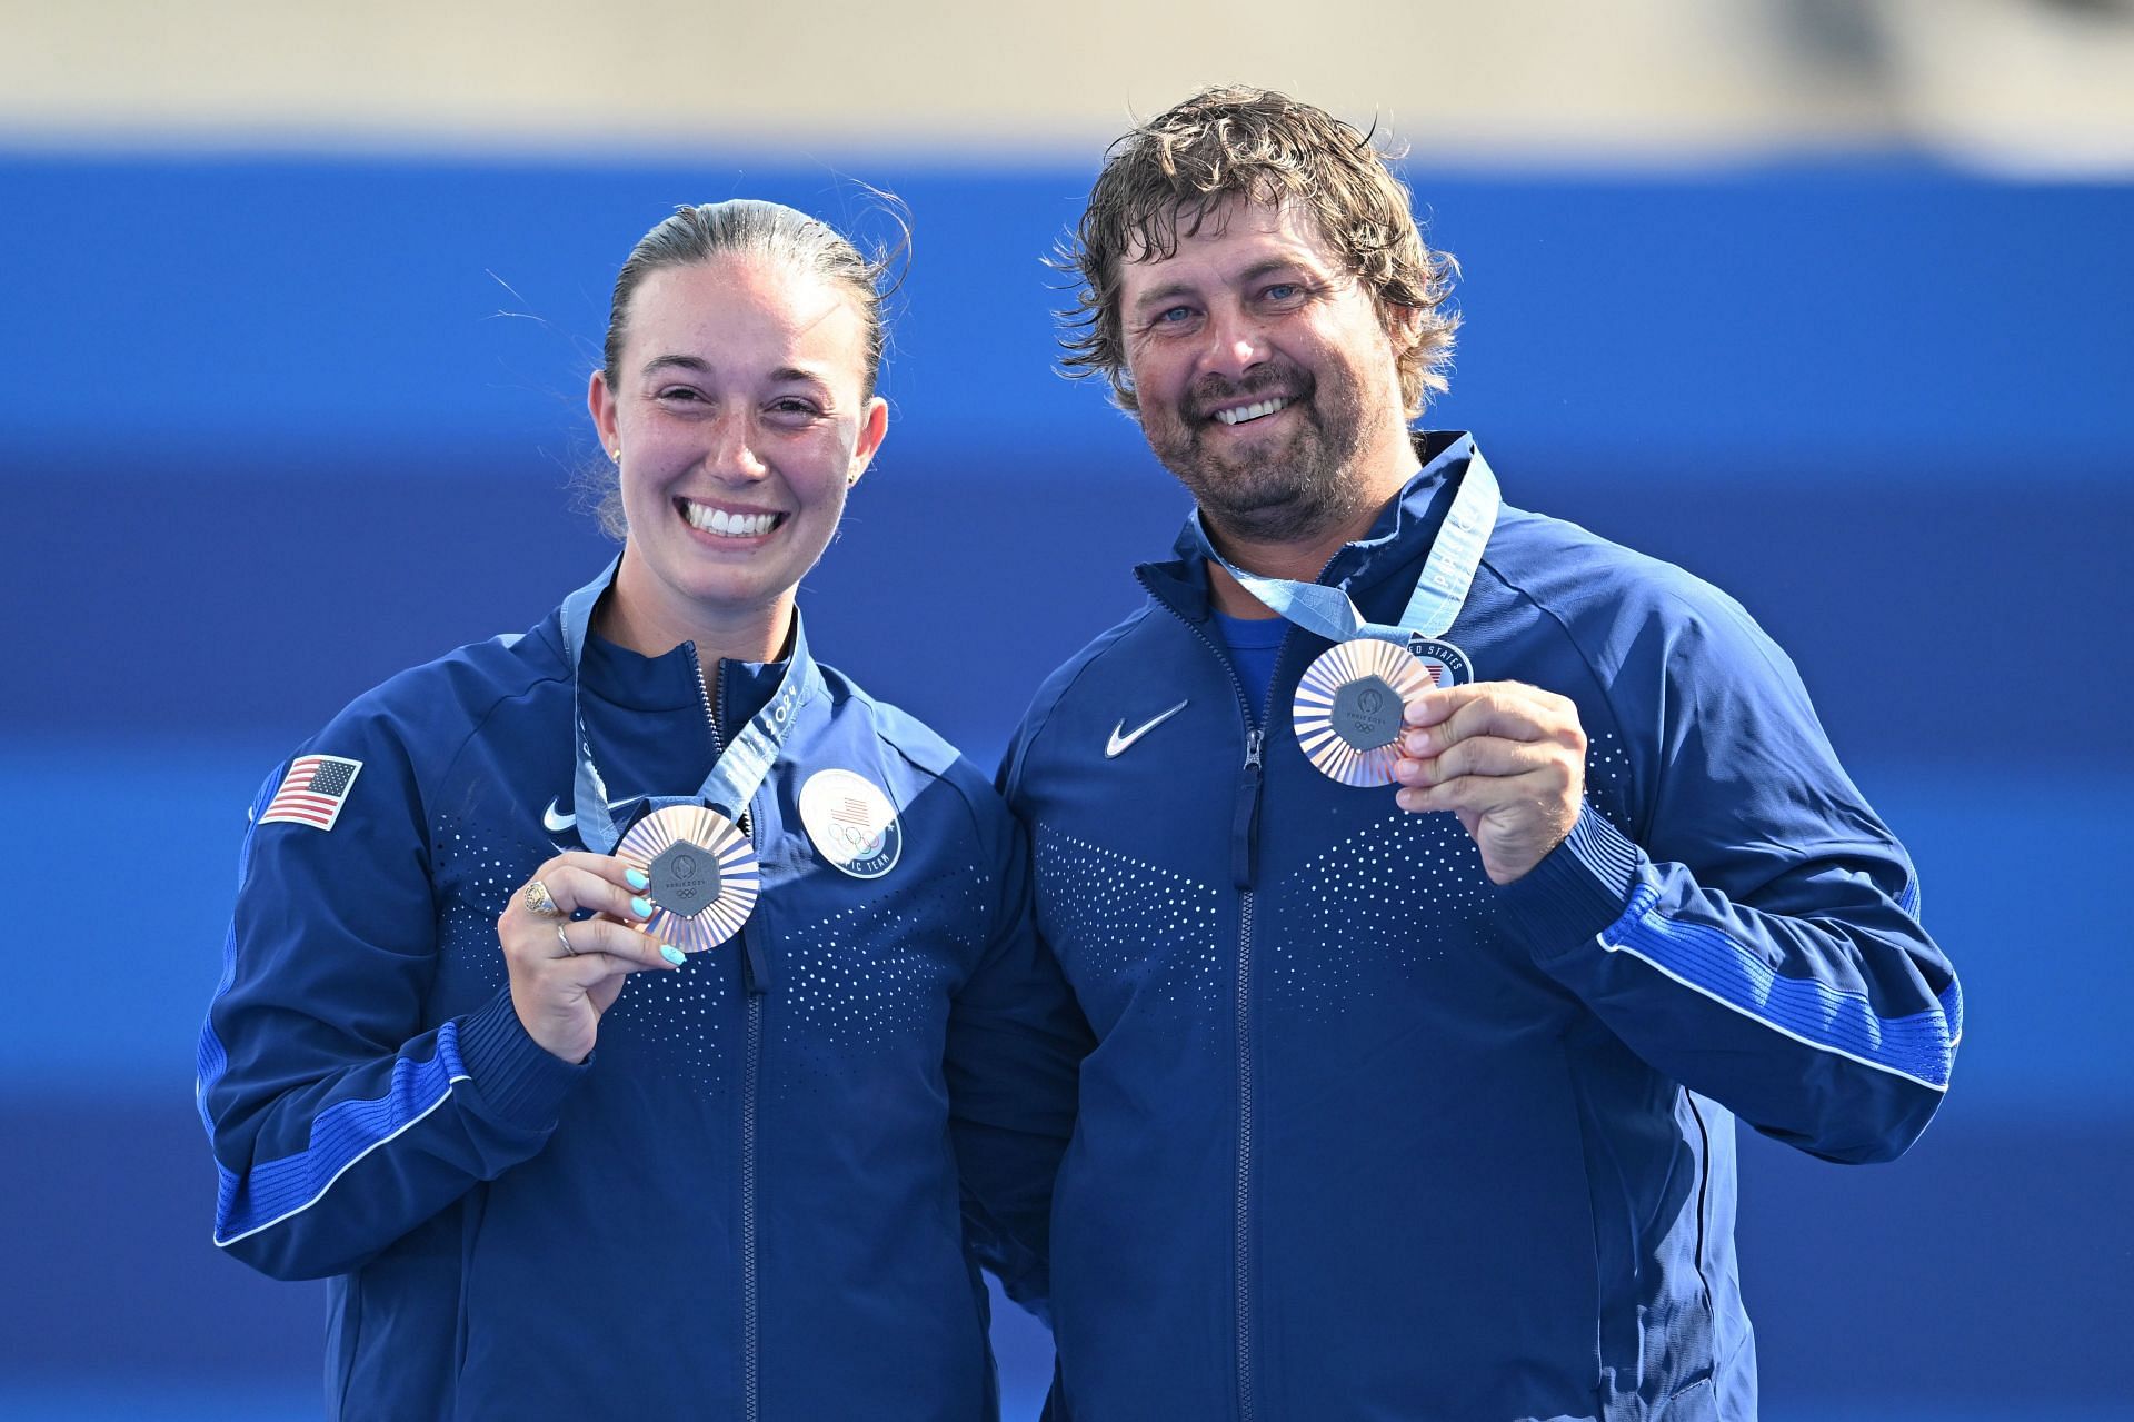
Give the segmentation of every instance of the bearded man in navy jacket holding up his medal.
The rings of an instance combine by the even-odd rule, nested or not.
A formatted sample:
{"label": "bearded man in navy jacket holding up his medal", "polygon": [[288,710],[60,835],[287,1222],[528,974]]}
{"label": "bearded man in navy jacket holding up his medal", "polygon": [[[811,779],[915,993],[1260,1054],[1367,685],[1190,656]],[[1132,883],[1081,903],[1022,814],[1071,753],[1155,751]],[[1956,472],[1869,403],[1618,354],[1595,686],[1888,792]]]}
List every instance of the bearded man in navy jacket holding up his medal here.
{"label": "bearded man in navy jacket holding up his medal", "polygon": [[1724,594],[1517,510],[1355,128],[1208,90],[1065,263],[1197,510],[1003,767],[1097,1046],[1056,1409],[1754,1418],[1735,1119],[1837,1162],[1961,1033],[1910,858]]}

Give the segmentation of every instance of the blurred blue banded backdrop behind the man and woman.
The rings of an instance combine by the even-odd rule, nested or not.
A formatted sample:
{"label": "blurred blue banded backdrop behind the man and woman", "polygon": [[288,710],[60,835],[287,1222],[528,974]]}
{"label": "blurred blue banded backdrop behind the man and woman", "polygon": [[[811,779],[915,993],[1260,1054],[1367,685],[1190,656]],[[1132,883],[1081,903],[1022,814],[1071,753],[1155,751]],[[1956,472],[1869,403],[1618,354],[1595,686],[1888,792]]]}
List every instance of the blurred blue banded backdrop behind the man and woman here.
{"label": "blurred blue banded backdrop behind the man and woman", "polygon": [[[216,1258],[190,1100],[245,805],[344,700],[529,626],[608,555],[572,508],[585,378],[617,263],[674,203],[888,235],[849,173],[913,214],[890,442],[805,587],[826,660],[990,764],[1137,600],[1184,500],[1050,372],[1039,265],[1101,139],[849,132],[685,158],[0,143],[0,863],[47,925],[17,935],[0,1033],[0,1416],[316,1416],[322,1290]],[[1743,1142],[1765,1416],[2134,1416],[2111,888],[2134,860],[2134,184],[1780,147],[1417,143],[1468,320],[1428,423],[1475,429],[1511,502],[1748,604],[1963,974],[1955,1089],[1906,1159]],[[997,1334],[1029,1418],[1048,1343],[1020,1315]]]}

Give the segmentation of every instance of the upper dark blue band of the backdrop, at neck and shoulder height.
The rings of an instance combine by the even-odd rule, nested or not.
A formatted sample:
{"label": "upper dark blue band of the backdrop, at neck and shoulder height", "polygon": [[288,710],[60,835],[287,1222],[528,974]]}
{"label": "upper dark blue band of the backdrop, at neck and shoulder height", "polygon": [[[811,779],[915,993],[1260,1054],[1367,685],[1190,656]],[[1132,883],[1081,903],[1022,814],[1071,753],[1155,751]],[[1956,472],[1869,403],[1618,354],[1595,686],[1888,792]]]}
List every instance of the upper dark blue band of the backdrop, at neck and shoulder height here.
{"label": "upper dark blue band of the backdrop, at neck and shoulder height", "polygon": [[[1137,436],[1122,423],[1114,436],[1118,457],[1086,468],[1058,451],[965,451],[926,468],[907,451],[869,474],[802,585],[822,658],[960,745],[1003,743],[1037,683],[1140,604],[1129,570],[1165,555],[1184,512]],[[2134,483],[2027,485],[2038,517],[1995,489],[1929,489],[1874,468],[1837,495],[1598,457],[1490,457],[1519,504],[1741,598],[1793,653],[1846,764],[1938,767],[1985,792],[1980,717],[2012,713],[2044,677],[2059,688],[2055,743],[2079,745],[2098,771],[2134,771],[2121,726]],[[243,737],[258,760],[235,816],[258,767],[346,700],[459,643],[531,626],[612,555],[570,512],[557,470],[512,461],[292,478],[162,451],[124,468],[55,459],[38,478],[0,478],[0,500],[38,532],[0,559],[0,606],[45,609],[13,630],[17,666],[34,670],[0,700],[0,728],[115,747]],[[262,536],[299,525],[301,547]],[[2010,583],[2034,596],[2010,600]],[[883,636],[888,621],[896,636]],[[1923,873],[1940,867],[1923,860]]]}

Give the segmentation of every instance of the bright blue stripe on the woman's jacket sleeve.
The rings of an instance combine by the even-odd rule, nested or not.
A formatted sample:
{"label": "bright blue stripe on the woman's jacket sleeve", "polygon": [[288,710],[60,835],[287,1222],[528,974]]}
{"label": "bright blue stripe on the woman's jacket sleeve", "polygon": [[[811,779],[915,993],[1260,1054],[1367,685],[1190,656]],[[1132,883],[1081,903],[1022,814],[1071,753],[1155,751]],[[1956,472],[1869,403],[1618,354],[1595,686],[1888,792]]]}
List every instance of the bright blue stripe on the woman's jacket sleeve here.
{"label": "bright blue stripe on the woman's jacket sleeve", "polygon": [[356,1162],[444,1106],[452,1083],[469,1080],[459,1061],[459,1023],[437,1029],[429,1061],[393,1063],[393,1089],[369,1102],[337,1102],[312,1121],[312,1142],[297,1155],[235,1172],[216,1164],[216,1245],[273,1228],[318,1204]]}

